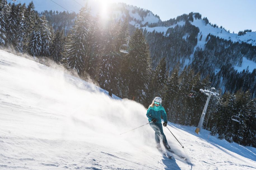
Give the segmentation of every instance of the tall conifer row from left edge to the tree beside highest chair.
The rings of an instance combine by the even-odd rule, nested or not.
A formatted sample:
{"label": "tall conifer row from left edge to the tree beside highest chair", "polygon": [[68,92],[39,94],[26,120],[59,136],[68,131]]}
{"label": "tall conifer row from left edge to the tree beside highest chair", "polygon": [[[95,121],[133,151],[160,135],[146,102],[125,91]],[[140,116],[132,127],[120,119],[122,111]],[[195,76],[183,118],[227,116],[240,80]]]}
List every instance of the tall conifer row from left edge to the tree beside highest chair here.
{"label": "tall conifer row from left edge to the tree beside highest chair", "polygon": [[[128,19],[111,19],[104,25],[85,6],[65,37],[63,29],[55,32],[46,16],[39,15],[34,8],[33,2],[26,6],[1,1],[1,46],[13,46],[38,58],[48,57],[75,70],[83,79],[90,76],[100,87],[112,89],[119,97],[134,97],[145,104],[151,60],[140,29],[130,36]],[[54,13],[42,14],[57,17]],[[121,53],[119,48],[128,39],[129,54]]]}

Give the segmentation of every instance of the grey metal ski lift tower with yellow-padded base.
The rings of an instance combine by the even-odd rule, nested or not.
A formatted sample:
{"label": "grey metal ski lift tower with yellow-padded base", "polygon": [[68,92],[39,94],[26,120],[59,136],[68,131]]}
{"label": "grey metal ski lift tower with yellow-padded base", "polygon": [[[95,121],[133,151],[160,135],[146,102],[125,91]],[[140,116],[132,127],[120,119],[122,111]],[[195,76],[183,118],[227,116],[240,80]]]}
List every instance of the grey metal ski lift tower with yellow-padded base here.
{"label": "grey metal ski lift tower with yellow-padded base", "polygon": [[210,101],[210,98],[211,97],[216,97],[216,98],[219,98],[219,91],[216,90],[214,87],[212,88],[209,88],[209,87],[205,87],[205,90],[203,89],[200,89],[200,91],[202,93],[204,93],[206,96],[208,96],[207,100],[206,100],[206,104],[205,104],[205,108],[203,110],[203,113],[201,115],[201,119],[199,121],[199,124],[195,130],[195,132],[197,134],[200,134],[200,131],[202,129],[202,126],[203,126],[203,122],[204,122],[204,119],[205,119],[205,114],[206,114],[206,110],[207,110],[207,107],[208,107],[208,104],[209,104],[209,101]]}

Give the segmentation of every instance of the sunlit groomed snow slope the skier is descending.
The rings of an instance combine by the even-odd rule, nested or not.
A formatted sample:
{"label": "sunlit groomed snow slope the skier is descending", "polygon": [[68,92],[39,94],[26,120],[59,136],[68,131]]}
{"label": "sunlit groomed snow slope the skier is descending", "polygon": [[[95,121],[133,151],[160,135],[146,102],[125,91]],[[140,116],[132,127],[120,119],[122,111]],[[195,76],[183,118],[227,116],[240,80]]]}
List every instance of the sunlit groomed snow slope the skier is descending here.
{"label": "sunlit groomed snow slope the skier is descending", "polygon": [[168,123],[161,155],[146,109],[92,83],[0,51],[0,169],[256,169],[256,148]]}

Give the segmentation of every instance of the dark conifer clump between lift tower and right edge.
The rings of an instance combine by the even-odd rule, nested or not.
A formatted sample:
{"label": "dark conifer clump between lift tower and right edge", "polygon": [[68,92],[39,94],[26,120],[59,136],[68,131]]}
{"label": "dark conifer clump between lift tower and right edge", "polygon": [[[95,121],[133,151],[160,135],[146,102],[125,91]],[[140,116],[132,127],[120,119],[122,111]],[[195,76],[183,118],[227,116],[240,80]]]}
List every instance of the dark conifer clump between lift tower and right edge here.
{"label": "dark conifer clump between lift tower and right edge", "polygon": [[[219,134],[219,139],[256,147],[256,100],[250,95],[242,90],[225,93],[210,112],[210,124],[205,128],[212,135]],[[240,122],[231,120],[233,115],[239,116]]]}

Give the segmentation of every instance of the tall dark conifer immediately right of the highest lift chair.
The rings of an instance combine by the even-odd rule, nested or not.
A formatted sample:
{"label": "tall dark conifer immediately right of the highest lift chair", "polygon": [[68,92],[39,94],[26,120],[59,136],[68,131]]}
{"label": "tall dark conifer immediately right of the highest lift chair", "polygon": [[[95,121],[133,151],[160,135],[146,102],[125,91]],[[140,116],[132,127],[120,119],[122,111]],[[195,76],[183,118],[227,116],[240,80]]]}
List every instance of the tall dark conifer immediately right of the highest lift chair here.
{"label": "tall dark conifer immediately right of the highest lift chair", "polygon": [[126,58],[126,83],[129,87],[128,97],[144,103],[149,84],[150,58],[149,49],[140,29],[136,29],[130,39],[130,52]]}

